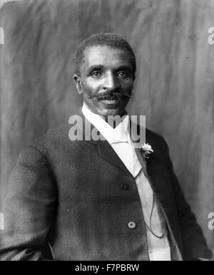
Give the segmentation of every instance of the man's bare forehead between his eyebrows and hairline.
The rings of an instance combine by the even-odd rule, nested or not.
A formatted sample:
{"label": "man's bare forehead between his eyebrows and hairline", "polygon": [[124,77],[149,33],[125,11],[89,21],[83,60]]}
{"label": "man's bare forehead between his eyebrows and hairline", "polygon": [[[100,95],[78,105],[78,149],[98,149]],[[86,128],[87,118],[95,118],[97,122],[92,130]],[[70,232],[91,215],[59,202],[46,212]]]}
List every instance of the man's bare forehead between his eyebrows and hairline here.
{"label": "man's bare forehead between his eyebrows and hairline", "polygon": [[123,48],[92,46],[84,52],[85,67],[102,65],[105,67],[132,66],[131,53]]}

